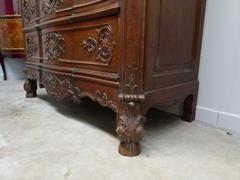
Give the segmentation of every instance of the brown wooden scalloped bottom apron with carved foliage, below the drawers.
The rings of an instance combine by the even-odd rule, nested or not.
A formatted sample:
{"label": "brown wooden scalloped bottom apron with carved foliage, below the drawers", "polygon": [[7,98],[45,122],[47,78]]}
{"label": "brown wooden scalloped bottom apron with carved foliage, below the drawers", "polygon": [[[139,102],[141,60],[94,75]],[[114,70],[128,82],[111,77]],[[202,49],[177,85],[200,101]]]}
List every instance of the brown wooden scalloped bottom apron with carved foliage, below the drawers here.
{"label": "brown wooden scalloped bottom apron with carved foliage, below the drawers", "polygon": [[42,84],[48,95],[56,100],[72,100],[80,103],[81,98],[89,97],[102,106],[117,111],[117,89],[71,77],[69,74],[43,71]]}

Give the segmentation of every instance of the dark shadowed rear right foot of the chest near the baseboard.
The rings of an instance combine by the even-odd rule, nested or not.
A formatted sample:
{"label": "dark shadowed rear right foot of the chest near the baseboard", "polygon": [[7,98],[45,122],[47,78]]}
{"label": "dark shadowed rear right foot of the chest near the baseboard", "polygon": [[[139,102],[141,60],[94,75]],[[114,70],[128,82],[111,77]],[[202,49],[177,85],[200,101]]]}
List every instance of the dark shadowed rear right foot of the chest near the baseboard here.
{"label": "dark shadowed rear right foot of the chest near the baseboard", "polygon": [[195,120],[197,95],[188,96],[183,103],[182,120],[192,122]]}

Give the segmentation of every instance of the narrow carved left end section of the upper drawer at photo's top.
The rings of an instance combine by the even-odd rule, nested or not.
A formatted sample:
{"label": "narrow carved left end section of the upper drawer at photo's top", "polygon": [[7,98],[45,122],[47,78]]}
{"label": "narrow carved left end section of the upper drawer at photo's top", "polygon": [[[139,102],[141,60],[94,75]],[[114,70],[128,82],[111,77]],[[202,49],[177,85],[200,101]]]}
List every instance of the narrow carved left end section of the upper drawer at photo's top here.
{"label": "narrow carved left end section of the upper drawer at photo's top", "polygon": [[37,4],[35,0],[22,0],[22,16],[24,27],[31,27],[36,24]]}

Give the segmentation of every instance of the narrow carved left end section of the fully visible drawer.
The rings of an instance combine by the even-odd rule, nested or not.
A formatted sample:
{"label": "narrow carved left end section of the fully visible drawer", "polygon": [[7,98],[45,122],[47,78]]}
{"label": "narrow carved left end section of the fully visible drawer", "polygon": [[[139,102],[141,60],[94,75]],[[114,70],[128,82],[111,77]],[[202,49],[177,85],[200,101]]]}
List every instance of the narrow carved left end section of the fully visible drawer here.
{"label": "narrow carved left end section of the fully visible drawer", "polygon": [[40,55],[39,35],[37,32],[25,34],[25,52],[28,61],[39,62]]}

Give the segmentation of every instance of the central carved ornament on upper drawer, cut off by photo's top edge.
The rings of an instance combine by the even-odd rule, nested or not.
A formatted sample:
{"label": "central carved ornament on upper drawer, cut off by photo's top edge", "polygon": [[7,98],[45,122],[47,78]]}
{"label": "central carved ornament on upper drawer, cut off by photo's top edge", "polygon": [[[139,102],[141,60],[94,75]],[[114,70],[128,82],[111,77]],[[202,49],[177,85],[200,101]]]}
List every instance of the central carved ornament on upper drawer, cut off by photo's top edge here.
{"label": "central carved ornament on upper drawer, cut off by photo's top edge", "polygon": [[42,10],[45,15],[55,13],[63,0],[43,0]]}

